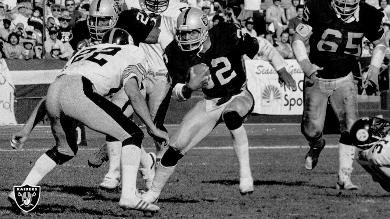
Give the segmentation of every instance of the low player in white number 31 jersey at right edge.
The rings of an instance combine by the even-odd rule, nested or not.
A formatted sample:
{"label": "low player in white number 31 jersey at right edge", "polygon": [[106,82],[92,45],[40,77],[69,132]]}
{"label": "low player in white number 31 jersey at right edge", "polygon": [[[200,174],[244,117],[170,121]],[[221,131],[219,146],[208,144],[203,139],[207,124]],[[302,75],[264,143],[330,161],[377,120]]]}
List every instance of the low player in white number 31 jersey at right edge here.
{"label": "low player in white number 31 jersey at right edge", "polygon": [[390,123],[377,117],[359,118],[351,127],[353,145],[361,149],[357,161],[372,180],[390,192]]}

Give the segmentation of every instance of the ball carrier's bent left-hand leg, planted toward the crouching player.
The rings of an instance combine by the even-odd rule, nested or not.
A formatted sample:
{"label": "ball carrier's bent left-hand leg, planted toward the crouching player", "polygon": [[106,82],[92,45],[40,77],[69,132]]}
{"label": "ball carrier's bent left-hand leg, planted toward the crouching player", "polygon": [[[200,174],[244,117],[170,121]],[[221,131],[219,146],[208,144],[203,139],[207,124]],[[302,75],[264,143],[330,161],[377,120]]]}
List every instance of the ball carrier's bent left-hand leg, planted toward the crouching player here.
{"label": "ball carrier's bent left-hand leg, planted toward the crouching player", "polygon": [[205,138],[215,127],[218,118],[215,119],[207,113],[206,102],[205,99],[199,101],[186,114],[179,128],[170,138],[168,150],[156,167],[156,175],[153,178],[152,187],[141,196],[143,200],[153,203],[158,199],[169,177],[174,173],[179,159]]}

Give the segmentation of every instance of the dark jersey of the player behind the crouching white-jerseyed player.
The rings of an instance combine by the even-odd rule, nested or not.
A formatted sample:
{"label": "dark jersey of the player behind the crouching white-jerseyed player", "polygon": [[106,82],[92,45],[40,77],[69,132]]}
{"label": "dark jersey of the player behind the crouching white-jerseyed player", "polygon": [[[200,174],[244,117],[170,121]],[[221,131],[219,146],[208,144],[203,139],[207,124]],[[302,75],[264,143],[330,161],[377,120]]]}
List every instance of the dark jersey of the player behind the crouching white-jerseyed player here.
{"label": "dark jersey of the player behind the crouching white-jerseyed player", "polygon": [[[122,11],[118,16],[115,27],[122,28],[133,37],[134,45],[144,42],[154,26],[154,21],[148,19],[147,14],[136,8]],[[77,44],[83,39],[90,39],[87,21],[80,21],[72,28],[73,38],[69,41],[72,48],[77,51]]]}

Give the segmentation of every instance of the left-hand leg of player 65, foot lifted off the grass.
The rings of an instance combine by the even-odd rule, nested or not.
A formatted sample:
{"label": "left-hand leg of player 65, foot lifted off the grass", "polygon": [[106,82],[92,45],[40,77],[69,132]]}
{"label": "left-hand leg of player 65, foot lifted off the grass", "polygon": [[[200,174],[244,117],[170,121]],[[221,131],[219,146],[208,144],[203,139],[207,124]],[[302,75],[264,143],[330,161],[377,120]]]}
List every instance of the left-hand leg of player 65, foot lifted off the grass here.
{"label": "left-hand leg of player 65, foot lifted off the grass", "polygon": [[310,150],[305,157],[306,170],[316,167],[319,154],[325,146],[322,136],[328,97],[321,90],[323,79],[305,78],[303,90],[303,116],[301,132],[309,142]]}

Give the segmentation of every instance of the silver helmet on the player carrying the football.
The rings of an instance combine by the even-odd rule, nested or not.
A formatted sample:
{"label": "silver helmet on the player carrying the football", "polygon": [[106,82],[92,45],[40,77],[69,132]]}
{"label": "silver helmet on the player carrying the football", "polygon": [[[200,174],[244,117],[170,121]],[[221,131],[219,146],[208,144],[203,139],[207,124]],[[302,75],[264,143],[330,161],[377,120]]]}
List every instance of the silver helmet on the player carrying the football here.
{"label": "silver helmet on the player carrying the football", "polygon": [[[175,28],[175,39],[179,47],[183,51],[192,51],[206,41],[209,35],[209,22],[206,14],[197,8],[189,8],[182,11],[177,17],[177,26]],[[199,32],[199,37],[196,39],[184,39],[183,34]]]}

